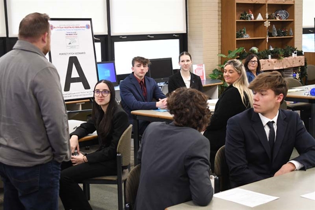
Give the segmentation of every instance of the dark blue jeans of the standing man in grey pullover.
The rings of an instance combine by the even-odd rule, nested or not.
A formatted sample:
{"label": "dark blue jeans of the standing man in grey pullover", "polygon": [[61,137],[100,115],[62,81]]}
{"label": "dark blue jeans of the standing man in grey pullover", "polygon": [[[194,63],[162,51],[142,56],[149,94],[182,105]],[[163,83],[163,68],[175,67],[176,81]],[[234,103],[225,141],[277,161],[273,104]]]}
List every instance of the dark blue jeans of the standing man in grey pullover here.
{"label": "dark blue jeans of the standing man in grey pullover", "polygon": [[32,167],[0,163],[4,183],[4,210],[58,210],[60,163]]}

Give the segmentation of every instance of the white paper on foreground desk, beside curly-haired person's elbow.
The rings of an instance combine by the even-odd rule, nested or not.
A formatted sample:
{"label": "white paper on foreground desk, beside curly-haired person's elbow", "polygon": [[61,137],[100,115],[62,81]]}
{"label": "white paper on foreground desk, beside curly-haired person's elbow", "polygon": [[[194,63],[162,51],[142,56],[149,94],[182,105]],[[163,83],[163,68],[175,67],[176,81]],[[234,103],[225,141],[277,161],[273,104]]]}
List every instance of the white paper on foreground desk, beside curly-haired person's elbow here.
{"label": "white paper on foreground desk, beside curly-haired person's elbow", "polygon": [[223,191],[221,193],[216,193],[213,196],[217,198],[221,198],[223,200],[242,204],[248,207],[259,206],[261,204],[265,204],[279,198],[279,197],[274,197],[270,195],[253,192],[250,190],[244,190],[241,188],[234,188],[231,190]]}

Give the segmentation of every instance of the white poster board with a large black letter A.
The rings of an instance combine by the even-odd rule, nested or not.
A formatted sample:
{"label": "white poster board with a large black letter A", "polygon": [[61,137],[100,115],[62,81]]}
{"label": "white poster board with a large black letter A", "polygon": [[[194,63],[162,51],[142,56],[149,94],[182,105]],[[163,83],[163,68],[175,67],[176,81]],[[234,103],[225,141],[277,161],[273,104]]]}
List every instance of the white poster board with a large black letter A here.
{"label": "white poster board with a large black letter A", "polygon": [[93,97],[97,82],[92,19],[51,18],[50,62],[56,67],[65,101]]}

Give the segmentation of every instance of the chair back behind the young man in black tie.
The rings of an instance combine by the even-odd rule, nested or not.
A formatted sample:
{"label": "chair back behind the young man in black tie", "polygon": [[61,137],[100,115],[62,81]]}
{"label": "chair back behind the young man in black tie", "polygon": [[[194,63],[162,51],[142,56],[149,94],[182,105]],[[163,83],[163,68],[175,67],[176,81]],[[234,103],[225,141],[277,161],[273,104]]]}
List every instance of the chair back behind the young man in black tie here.
{"label": "chair back behind the young man in black tie", "polygon": [[215,157],[215,193],[230,189],[229,171],[225,159],[225,145],[221,146]]}

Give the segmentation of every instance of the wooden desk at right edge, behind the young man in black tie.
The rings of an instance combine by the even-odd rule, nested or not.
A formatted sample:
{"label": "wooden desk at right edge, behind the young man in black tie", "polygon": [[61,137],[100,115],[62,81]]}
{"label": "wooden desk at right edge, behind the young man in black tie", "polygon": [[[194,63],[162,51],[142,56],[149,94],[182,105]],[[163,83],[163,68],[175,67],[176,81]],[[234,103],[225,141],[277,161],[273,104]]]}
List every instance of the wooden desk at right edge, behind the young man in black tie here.
{"label": "wooden desk at right edge, behind the young man in black tie", "polygon": [[[301,86],[301,87],[296,87],[296,88],[305,89],[306,87],[308,87],[311,90],[312,88],[315,88],[315,85],[306,85],[306,86]],[[311,104],[311,116],[310,116],[311,120],[310,120],[310,125],[309,125],[310,127],[309,132],[315,138],[315,96],[312,96],[312,95],[305,96],[304,90],[296,91],[296,92],[287,93],[285,101],[305,102],[305,103]]]}

